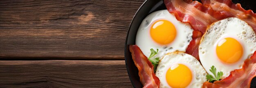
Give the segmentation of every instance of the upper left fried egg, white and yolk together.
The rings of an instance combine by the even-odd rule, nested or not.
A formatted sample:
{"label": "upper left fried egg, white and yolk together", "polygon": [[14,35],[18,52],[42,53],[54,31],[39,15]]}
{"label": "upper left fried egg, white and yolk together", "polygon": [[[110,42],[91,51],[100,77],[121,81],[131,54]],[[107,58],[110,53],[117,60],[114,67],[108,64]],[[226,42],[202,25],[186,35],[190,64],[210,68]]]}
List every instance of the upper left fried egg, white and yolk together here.
{"label": "upper left fried egg, white and yolk together", "polygon": [[150,56],[150,48],[159,49],[154,57],[162,57],[173,51],[186,51],[192,40],[193,29],[182,23],[167,10],[150,13],[140,24],[135,43],[141,51]]}

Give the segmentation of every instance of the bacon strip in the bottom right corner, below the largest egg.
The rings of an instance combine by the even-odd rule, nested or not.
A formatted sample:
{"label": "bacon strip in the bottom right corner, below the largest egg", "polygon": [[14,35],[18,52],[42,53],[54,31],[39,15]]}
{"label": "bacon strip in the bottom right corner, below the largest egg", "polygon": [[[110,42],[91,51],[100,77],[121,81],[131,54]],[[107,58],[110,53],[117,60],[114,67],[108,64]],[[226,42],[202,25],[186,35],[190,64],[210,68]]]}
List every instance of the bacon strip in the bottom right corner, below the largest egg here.
{"label": "bacon strip in the bottom right corner, below the largest egg", "polygon": [[256,77],[256,51],[250,59],[245,60],[241,69],[231,71],[228,77],[220,81],[204,82],[203,88],[249,88],[254,77]]}

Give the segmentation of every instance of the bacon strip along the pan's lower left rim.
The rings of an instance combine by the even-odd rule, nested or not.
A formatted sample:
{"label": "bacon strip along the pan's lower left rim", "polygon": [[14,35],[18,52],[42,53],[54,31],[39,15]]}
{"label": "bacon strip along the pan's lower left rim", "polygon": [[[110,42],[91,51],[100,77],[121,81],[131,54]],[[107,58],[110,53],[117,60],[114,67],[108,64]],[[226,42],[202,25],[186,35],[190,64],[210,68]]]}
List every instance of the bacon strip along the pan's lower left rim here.
{"label": "bacon strip along the pan's lower left rim", "polygon": [[160,81],[158,77],[155,76],[152,63],[137,45],[130,45],[129,49],[132,53],[133,62],[139,70],[140,81],[144,85],[143,88],[159,88]]}

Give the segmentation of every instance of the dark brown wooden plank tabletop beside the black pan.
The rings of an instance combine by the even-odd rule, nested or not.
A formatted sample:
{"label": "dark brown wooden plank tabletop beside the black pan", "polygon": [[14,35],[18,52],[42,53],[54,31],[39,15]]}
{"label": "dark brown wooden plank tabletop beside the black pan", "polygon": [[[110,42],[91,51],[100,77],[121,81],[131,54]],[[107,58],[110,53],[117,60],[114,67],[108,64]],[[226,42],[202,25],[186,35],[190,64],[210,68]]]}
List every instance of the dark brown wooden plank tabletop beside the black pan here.
{"label": "dark brown wooden plank tabletop beside the black pan", "polygon": [[132,84],[124,43],[144,0],[0,0],[0,88]]}

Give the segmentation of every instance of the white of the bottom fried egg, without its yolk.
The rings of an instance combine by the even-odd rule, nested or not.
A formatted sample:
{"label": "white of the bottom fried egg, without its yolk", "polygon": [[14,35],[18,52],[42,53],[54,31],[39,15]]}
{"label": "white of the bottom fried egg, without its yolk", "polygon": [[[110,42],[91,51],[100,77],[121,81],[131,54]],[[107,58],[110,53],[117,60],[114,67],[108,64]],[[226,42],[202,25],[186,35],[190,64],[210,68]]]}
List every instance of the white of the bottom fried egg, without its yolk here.
{"label": "white of the bottom fried egg, without its yolk", "polygon": [[207,73],[195,57],[182,52],[172,52],[164,55],[157,66],[155,74],[160,80],[160,88],[171,88],[166,81],[166,72],[175,64],[184,64],[192,72],[191,83],[186,88],[201,88],[203,82],[207,81]]}

